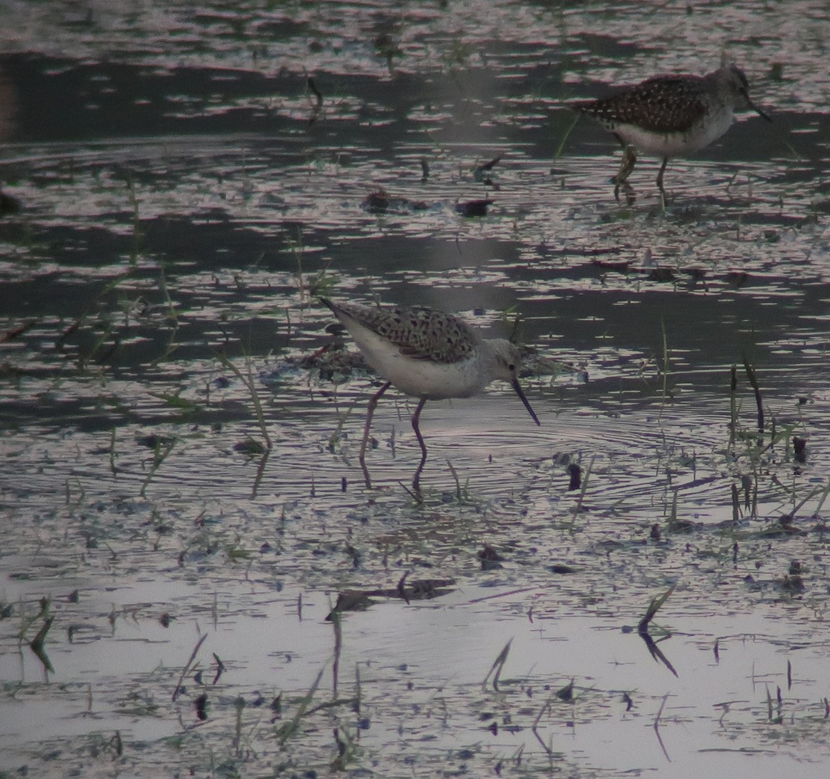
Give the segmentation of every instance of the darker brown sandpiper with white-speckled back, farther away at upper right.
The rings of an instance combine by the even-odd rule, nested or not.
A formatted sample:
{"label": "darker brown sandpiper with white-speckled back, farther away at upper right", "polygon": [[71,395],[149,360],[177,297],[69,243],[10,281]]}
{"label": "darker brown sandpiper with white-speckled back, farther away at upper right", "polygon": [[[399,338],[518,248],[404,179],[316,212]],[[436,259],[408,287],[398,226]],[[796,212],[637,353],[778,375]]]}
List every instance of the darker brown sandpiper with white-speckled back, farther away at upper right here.
{"label": "darker brown sandpiper with white-speckled back, farther away at upper right", "polygon": [[754,110],[772,121],[749,100],[749,82],[732,64],[706,76],[654,76],[617,95],[575,103],[574,109],[593,116],[623,146],[623,163],[612,179],[615,196],[634,169],[637,152],[662,158],[657,187],[665,194],[663,172],[669,159],[720,138],[735,110]]}

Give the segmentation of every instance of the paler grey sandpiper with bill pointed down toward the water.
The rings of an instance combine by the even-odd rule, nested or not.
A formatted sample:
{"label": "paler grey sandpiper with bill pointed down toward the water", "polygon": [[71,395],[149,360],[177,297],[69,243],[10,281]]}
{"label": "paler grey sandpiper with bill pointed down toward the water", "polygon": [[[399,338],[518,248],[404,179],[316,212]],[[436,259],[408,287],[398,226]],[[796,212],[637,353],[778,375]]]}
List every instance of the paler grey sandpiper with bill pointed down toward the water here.
{"label": "paler grey sandpiper with bill pointed down toward the water", "polygon": [[421,447],[421,462],[413,478],[416,494],[420,494],[421,472],[427,462],[427,445],[419,428],[427,400],[469,398],[491,381],[509,381],[533,421],[540,424],[519,384],[520,354],[510,341],[482,338],[457,316],[425,306],[379,308],[334,302],[325,297],[320,301],[351,333],[366,362],[386,380],[369,400],[360,444],[359,463],[367,487],[372,486],[365,459],[372,416],[381,395],[392,385],[418,398],[412,420]]}

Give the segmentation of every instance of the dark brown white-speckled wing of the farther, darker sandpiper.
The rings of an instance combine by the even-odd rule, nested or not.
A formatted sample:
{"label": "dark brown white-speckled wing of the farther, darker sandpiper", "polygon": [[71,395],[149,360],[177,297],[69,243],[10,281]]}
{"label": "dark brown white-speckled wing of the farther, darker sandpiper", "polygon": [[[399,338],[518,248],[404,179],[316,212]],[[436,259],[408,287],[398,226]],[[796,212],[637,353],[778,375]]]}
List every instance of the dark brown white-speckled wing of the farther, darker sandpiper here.
{"label": "dark brown white-speckled wing of the farther, darker sandpiper", "polygon": [[577,108],[603,124],[637,125],[655,133],[685,132],[706,115],[705,92],[699,76],[655,76]]}

